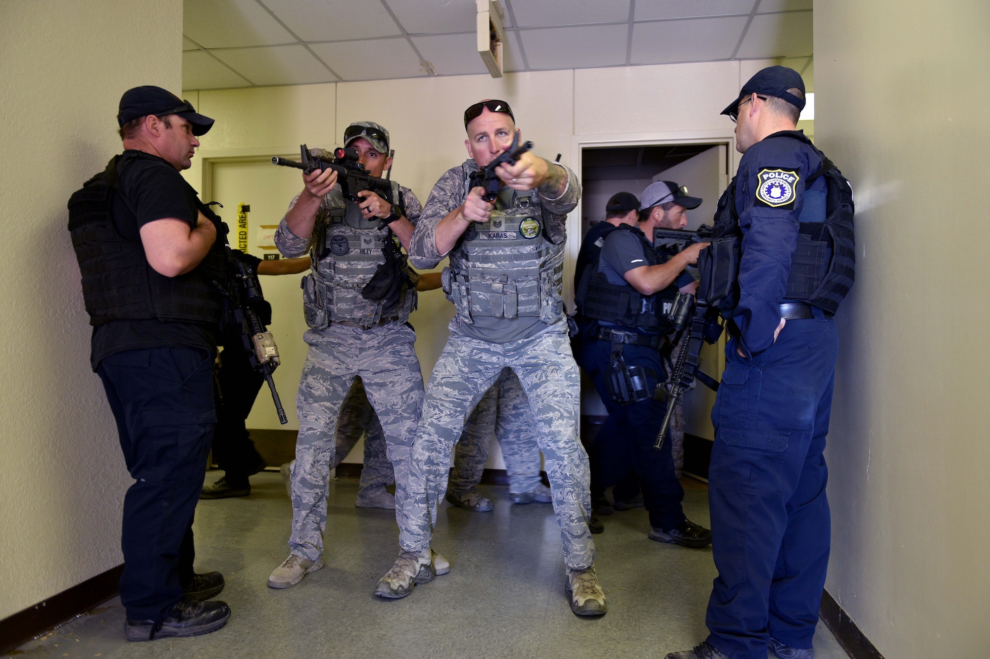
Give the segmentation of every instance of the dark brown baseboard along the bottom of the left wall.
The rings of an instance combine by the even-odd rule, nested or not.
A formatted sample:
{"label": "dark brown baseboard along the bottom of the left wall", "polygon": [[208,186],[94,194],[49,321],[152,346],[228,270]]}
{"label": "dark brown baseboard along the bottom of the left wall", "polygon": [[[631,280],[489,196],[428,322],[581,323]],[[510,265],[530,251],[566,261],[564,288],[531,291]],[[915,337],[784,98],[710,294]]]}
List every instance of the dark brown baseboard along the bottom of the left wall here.
{"label": "dark brown baseboard along the bottom of the left wall", "polygon": [[0,654],[39,636],[117,595],[123,565],[66,589],[22,612],[0,620]]}

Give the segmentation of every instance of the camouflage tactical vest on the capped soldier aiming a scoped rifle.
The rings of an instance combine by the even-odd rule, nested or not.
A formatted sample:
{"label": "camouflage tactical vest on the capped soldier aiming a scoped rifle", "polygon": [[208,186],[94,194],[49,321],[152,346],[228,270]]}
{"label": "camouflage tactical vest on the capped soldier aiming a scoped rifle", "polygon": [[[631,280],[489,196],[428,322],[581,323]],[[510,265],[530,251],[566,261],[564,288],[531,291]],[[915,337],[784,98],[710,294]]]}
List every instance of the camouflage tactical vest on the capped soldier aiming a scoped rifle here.
{"label": "camouflage tactical vest on the capped soldier aiming a scoped rifle", "polygon": [[[399,184],[394,181],[392,198],[404,216]],[[390,309],[385,309],[381,300],[361,296],[361,289],[385,261],[386,240],[398,239],[392,231],[377,219],[365,220],[357,205],[344,199],[339,186],[327,195],[316,222],[310,246],[312,271],[301,283],[306,324],[312,329],[324,329],[331,323],[347,321],[370,328],[383,321],[408,321],[416,310],[415,288],[404,292]],[[408,258],[405,254],[399,258],[408,276]]]}

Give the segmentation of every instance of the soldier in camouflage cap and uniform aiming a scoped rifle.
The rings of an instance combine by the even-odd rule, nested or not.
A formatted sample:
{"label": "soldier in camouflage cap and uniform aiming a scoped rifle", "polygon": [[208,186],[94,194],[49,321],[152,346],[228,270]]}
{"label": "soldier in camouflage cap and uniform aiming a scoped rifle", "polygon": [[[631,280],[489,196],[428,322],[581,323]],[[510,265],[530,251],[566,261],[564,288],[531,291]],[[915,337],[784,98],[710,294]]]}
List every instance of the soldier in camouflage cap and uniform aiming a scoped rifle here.
{"label": "soldier in camouflage cap and uniform aiming a scoped rifle", "polygon": [[[357,151],[358,161],[372,176],[380,177],[391,166],[388,142],[388,132],[370,122],[351,124],[344,133],[344,145]],[[310,327],[303,338],[310,347],[296,398],[299,435],[290,472],[291,553],[268,578],[272,588],[297,584],[324,565],[335,429],[354,378],[360,376],[381,420],[388,458],[395,468],[398,518],[402,518],[409,451],[423,405],[423,376],[413,349],[416,333],[406,325],[416,308],[416,291],[409,285],[401,253],[395,258],[405,281],[398,299],[362,295],[379,267],[388,265],[387,250],[396,249],[393,241],[408,249],[413,223],[420,216],[419,201],[411,190],[394,182],[394,203],[370,191],[358,192],[356,200],[345,199],[337,179],[332,169],[304,174],[305,187],[289,204],[275,232],[275,244],[283,255],[309,252],[313,266],[303,279]]]}

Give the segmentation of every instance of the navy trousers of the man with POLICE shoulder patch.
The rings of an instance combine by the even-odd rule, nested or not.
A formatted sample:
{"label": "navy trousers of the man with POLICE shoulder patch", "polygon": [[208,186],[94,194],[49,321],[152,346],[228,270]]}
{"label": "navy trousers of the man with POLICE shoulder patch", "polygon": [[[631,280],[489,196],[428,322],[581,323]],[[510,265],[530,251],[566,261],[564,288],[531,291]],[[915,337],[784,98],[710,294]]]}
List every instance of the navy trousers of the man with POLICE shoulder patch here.
{"label": "navy trousers of the man with POLICE shoulder patch", "polygon": [[712,423],[708,642],[733,659],[764,659],[767,637],[812,647],[829,566],[831,518],[822,451],[839,333],[816,310],[788,321],[752,359],[726,346]]}

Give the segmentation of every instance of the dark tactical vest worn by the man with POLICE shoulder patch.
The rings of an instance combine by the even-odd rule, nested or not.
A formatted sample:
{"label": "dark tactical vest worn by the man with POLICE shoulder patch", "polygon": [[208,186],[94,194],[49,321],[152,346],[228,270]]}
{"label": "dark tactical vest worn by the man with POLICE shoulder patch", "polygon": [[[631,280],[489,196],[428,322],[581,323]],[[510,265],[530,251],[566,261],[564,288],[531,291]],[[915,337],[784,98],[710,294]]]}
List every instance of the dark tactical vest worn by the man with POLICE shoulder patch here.
{"label": "dark tactical vest worn by the man with POLICE shoulder patch", "polygon": [[[787,137],[812,145],[801,134],[788,133]],[[819,176],[825,177],[829,190],[825,222],[799,224],[798,244],[791,258],[787,292],[782,299],[804,302],[835,314],[852,288],[855,275],[852,187],[839,168],[822,151],[815,150],[822,158],[822,164],[808,177],[805,187],[807,189]],[[743,232],[735,200],[736,177],[733,177],[719,199],[712,245],[703,249],[698,257],[699,298],[706,299],[710,307],[720,310],[727,318],[732,316],[740,300]]]}

